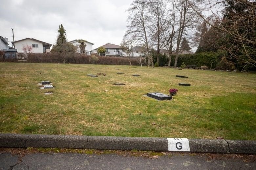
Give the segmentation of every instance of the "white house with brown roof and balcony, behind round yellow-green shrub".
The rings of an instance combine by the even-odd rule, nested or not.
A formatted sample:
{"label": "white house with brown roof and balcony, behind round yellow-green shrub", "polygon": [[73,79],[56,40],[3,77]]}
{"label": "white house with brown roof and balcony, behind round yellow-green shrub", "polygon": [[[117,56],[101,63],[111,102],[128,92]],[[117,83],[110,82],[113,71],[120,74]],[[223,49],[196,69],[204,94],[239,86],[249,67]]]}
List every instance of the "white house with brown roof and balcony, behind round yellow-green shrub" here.
{"label": "white house with brown roof and balcony, behind round yellow-green shrub", "polygon": [[[105,56],[124,56],[122,47],[120,45],[107,43],[105,45],[102,45],[101,47],[106,48],[106,53],[104,54]],[[91,53],[98,53],[98,48],[93,49]]]}

